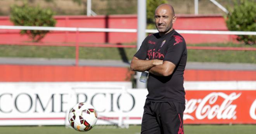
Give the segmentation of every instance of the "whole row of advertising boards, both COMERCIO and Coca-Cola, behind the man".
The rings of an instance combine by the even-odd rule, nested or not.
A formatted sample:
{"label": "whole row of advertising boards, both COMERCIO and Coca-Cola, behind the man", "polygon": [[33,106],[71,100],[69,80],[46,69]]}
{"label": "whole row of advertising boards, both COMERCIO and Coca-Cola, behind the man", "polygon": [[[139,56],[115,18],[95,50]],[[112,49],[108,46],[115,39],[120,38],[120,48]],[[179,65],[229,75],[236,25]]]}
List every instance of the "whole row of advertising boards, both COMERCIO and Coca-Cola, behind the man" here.
{"label": "whole row of advertising boards, both COMERCIO and Coca-Cola, behind the man", "polygon": [[[185,124],[256,124],[256,81],[184,86]],[[0,82],[0,125],[65,125],[78,102],[95,107],[98,125],[141,124],[147,93],[118,82]]]}

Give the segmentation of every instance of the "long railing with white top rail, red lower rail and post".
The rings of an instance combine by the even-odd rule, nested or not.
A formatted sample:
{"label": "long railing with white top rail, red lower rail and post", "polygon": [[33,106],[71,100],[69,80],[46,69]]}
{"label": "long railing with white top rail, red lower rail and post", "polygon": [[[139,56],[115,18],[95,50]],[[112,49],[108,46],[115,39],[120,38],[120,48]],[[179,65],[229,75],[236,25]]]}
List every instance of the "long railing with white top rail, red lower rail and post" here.
{"label": "long railing with white top rail, red lower rail and post", "polygon": [[[75,42],[68,43],[54,43],[54,42],[9,42],[0,41],[0,45],[28,45],[28,46],[75,46],[76,47],[76,66],[78,65],[79,59],[79,47],[118,47],[118,48],[137,48],[136,45],[124,45],[124,44],[89,44],[81,43],[79,40],[80,32],[125,32],[125,33],[136,33],[137,29],[111,29],[111,28],[79,28],[79,27],[34,27],[34,26],[0,26],[0,29],[27,29],[27,30],[48,30],[48,31],[72,31],[75,32]],[[146,30],[147,33],[155,33],[157,30]],[[180,33],[190,34],[239,34],[239,35],[256,35],[256,32],[243,32],[243,31],[193,31],[193,30],[180,30]],[[188,49],[194,50],[247,50],[256,51],[256,48],[249,47],[217,47],[217,46],[187,46]]]}

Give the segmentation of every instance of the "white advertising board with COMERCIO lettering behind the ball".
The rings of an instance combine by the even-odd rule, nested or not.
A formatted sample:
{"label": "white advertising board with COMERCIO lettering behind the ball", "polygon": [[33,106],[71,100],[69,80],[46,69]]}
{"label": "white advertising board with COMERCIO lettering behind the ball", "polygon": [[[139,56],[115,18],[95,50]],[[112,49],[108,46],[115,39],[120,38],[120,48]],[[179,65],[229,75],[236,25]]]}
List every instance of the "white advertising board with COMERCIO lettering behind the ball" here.
{"label": "white advertising board with COMERCIO lettering behind the ball", "polygon": [[95,107],[97,124],[118,124],[120,118],[140,124],[146,95],[146,89],[122,82],[2,82],[0,125],[64,125],[69,109],[79,102]]}

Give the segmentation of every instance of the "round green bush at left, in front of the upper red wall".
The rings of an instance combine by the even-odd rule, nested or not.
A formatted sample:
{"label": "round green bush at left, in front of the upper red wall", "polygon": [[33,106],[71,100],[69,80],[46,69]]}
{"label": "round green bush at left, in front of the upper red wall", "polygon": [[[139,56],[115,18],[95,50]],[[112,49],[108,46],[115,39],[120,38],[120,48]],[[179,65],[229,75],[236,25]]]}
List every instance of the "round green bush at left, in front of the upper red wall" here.
{"label": "round green bush at left, in front of the upper red wall", "polygon": [[[50,9],[42,9],[39,6],[31,7],[28,3],[22,6],[12,5],[10,20],[16,26],[55,26],[54,12]],[[28,34],[33,41],[40,41],[49,31],[21,30],[21,34]]]}

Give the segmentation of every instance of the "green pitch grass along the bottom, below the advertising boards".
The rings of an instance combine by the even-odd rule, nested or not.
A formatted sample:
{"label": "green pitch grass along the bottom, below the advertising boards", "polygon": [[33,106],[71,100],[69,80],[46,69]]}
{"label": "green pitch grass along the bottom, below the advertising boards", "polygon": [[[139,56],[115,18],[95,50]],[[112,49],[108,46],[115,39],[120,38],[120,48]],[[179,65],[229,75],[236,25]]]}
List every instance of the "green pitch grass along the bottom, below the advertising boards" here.
{"label": "green pitch grass along the bottom, below the advertising boards", "polygon": [[[256,125],[185,125],[185,134],[255,134]],[[1,126],[1,134],[140,134],[140,125],[128,129],[115,126],[95,126],[88,132],[78,132],[64,126]]]}

